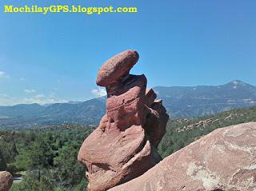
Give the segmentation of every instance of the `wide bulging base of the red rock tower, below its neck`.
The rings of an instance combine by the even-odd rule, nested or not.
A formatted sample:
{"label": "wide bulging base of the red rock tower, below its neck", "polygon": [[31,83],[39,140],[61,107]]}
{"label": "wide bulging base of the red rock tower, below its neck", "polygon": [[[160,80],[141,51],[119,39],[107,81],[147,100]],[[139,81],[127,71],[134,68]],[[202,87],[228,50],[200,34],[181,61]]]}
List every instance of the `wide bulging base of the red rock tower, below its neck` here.
{"label": "wide bulging base of the red rock tower, below its neck", "polygon": [[78,161],[87,166],[88,190],[106,190],[130,181],[159,161],[140,125],[122,132],[116,129],[107,132],[96,129],[78,154]]}

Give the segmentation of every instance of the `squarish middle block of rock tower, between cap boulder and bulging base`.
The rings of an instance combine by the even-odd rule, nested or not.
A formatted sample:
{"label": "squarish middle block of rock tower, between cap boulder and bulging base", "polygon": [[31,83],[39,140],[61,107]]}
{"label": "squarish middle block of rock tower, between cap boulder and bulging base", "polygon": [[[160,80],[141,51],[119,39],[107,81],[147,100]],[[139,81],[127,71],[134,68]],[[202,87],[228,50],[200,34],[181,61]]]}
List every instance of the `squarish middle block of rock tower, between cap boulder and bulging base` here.
{"label": "squarish middle block of rock tower, between cap boulder and bulging base", "polygon": [[130,75],[125,83],[109,90],[106,115],[118,129],[143,125],[145,121],[146,77]]}

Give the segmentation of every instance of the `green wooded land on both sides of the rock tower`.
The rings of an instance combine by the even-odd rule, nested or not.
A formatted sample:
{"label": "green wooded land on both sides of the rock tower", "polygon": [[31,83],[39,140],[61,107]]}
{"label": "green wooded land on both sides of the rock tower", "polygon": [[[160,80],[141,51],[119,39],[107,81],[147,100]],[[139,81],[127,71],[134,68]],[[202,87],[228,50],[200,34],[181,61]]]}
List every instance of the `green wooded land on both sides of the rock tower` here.
{"label": "green wooded land on both sides of the rock tower", "polygon": [[[256,106],[218,115],[170,120],[158,152],[169,156],[192,141],[228,125],[256,121]],[[43,129],[0,129],[0,170],[23,177],[11,190],[82,191],[85,167],[77,161],[82,141],[94,130],[83,125],[60,125]]]}

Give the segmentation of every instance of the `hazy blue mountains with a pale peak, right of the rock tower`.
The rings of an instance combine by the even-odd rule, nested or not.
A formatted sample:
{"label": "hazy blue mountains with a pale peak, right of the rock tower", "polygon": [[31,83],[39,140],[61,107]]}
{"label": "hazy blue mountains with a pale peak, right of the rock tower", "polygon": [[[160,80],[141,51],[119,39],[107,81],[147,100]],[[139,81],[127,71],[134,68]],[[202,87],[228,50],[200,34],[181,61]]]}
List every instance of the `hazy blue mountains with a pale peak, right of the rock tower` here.
{"label": "hazy blue mountains with a pale peak, right of the rock tower", "polygon": [[171,117],[200,117],[256,105],[256,87],[234,80],[221,86],[154,87]]}

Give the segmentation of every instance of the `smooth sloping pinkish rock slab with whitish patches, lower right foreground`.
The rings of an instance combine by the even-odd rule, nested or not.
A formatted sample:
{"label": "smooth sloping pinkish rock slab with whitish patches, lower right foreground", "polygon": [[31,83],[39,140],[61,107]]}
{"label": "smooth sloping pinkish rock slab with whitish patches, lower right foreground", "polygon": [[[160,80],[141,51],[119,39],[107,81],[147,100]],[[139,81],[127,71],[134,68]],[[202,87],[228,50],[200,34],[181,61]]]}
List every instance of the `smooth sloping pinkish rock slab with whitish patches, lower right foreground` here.
{"label": "smooth sloping pinkish rock slab with whitish patches, lower right foreground", "polygon": [[256,122],[214,130],[141,177],[110,189],[126,190],[255,191]]}

